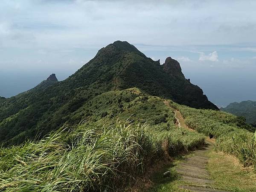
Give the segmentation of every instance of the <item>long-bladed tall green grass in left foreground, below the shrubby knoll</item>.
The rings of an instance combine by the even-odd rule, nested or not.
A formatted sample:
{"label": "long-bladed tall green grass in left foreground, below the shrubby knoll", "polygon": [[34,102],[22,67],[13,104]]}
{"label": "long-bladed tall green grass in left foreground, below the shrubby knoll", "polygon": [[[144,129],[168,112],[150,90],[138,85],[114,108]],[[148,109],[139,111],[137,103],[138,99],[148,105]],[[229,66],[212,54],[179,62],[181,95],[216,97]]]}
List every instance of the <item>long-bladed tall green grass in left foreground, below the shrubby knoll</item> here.
{"label": "long-bladed tall green grass in left foreground, below the shrubby knoll", "polygon": [[156,160],[204,142],[186,130],[151,134],[148,125],[89,124],[64,128],[38,142],[0,149],[0,191],[116,191]]}

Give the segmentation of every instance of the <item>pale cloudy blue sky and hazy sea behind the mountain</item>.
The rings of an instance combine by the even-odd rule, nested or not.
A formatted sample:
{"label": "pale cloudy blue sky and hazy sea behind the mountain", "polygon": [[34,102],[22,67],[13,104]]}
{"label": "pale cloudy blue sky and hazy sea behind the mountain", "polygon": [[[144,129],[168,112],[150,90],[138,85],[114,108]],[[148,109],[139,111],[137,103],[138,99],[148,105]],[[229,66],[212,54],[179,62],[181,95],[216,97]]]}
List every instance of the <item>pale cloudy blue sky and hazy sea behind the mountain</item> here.
{"label": "pale cloudy blue sky and hazy sea behind the mountain", "polygon": [[64,80],[116,40],[171,56],[218,106],[256,100],[255,0],[1,0],[0,96]]}

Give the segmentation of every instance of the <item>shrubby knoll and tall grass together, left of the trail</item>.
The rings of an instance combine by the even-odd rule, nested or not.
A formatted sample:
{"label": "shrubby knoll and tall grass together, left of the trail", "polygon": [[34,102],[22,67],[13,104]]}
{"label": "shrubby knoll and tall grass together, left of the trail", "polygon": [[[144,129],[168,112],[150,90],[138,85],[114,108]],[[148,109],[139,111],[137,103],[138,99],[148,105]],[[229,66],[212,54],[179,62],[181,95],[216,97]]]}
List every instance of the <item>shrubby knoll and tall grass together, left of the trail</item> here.
{"label": "shrubby knoll and tall grass together, left of the trail", "polygon": [[157,160],[204,143],[175,126],[163,101],[135,88],[103,93],[73,114],[76,121],[90,113],[81,125],[1,148],[0,191],[122,191]]}

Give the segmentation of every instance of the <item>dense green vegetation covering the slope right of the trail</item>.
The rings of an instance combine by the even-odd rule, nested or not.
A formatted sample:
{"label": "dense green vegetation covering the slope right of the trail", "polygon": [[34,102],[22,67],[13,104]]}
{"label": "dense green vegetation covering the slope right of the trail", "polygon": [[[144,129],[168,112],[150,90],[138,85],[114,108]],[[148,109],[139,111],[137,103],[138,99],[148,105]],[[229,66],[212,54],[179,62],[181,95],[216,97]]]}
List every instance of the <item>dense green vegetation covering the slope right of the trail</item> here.
{"label": "dense green vegetation covering the slope right of the trail", "polygon": [[235,155],[244,166],[254,166],[256,169],[256,130],[246,124],[244,118],[222,111],[197,110],[173,103],[171,105],[182,113],[190,128],[215,137],[219,150]]}

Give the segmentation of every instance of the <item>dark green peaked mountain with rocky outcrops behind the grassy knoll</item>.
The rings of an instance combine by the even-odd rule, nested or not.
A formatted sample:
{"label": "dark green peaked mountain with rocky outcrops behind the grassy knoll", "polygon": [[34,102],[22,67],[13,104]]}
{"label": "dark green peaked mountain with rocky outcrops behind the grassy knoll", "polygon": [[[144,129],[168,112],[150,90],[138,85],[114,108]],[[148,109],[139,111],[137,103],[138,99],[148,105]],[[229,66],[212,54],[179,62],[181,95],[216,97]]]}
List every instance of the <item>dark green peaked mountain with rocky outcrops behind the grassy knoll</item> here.
{"label": "dark green peaked mountain with rocky outcrops behind the grassy knoll", "polygon": [[131,87],[194,108],[218,110],[198,86],[185,79],[177,61],[167,58],[160,65],[128,42],[116,41],[66,80],[51,77],[0,102],[0,142],[22,143],[38,134],[41,138],[64,123],[72,125],[71,114],[95,96]]}

